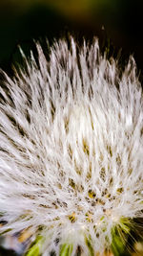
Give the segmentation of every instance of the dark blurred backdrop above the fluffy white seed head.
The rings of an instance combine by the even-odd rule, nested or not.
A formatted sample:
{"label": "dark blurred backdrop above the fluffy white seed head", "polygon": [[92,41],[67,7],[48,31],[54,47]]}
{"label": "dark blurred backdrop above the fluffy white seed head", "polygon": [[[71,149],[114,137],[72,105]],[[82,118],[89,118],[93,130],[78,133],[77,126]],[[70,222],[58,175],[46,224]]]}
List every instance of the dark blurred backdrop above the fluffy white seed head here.
{"label": "dark blurred backdrop above the fluffy white seed head", "polygon": [[142,0],[0,0],[0,67],[10,72],[18,61],[17,45],[31,49],[32,38],[53,38],[72,33],[99,37],[123,58],[133,54],[143,70]]}

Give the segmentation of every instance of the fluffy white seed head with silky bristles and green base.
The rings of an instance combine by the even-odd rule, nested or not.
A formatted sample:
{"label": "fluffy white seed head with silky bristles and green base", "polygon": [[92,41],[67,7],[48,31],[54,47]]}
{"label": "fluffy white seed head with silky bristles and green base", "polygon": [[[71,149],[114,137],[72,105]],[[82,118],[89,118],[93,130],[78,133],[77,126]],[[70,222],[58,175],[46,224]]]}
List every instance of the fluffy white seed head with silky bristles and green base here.
{"label": "fluffy white seed head with silky bristles and green base", "polygon": [[[0,87],[0,232],[26,255],[122,249],[143,217],[143,98],[98,40],[55,42]],[[5,224],[2,224],[5,223]]]}

